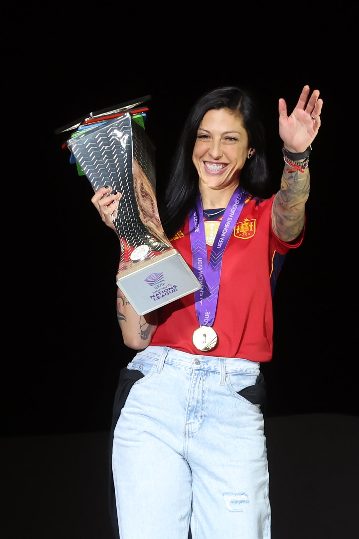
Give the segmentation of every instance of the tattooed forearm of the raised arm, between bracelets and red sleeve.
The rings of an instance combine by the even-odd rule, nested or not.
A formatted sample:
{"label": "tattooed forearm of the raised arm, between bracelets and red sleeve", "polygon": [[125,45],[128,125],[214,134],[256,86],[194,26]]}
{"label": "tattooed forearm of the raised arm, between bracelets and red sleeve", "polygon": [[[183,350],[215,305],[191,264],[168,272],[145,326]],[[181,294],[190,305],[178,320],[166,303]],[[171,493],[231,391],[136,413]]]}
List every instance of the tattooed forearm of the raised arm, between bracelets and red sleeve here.
{"label": "tattooed forearm of the raised arm, between bracelets and red sleeve", "polygon": [[280,191],[274,197],[272,227],[283,241],[297,238],[304,226],[304,206],[309,196],[309,170],[286,170],[281,177]]}

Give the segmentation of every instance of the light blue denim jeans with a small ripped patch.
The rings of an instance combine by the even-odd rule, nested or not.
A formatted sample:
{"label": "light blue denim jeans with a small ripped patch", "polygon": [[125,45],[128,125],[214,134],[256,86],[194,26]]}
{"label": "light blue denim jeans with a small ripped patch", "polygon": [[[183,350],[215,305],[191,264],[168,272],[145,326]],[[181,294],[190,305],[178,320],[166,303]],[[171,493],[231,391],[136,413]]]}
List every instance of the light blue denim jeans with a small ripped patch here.
{"label": "light blue denim jeans with a small ripped patch", "polygon": [[148,347],[112,453],[121,539],[269,539],[259,363]]}

